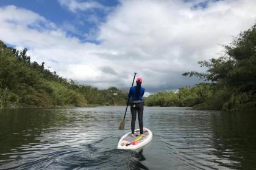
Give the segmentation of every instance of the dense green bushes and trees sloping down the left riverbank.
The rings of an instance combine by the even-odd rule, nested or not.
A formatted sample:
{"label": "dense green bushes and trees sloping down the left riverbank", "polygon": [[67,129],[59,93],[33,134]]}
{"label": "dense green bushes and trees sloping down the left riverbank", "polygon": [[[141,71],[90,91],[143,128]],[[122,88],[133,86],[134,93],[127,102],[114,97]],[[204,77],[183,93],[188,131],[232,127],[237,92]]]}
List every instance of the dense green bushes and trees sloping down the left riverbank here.
{"label": "dense green bushes and trees sloping down the left riverbank", "polygon": [[0,41],[0,107],[126,105],[127,92],[99,90],[59,77]]}

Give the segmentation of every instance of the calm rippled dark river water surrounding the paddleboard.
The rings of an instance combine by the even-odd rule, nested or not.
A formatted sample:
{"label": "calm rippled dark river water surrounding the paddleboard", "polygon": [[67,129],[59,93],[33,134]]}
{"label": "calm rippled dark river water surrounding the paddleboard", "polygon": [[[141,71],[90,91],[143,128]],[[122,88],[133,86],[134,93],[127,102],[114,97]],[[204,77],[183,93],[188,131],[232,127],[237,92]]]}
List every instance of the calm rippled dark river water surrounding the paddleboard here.
{"label": "calm rippled dark river water surrounding the paddleboard", "polygon": [[256,113],[145,107],[153,140],[124,151],[124,110],[1,109],[0,169],[256,169]]}

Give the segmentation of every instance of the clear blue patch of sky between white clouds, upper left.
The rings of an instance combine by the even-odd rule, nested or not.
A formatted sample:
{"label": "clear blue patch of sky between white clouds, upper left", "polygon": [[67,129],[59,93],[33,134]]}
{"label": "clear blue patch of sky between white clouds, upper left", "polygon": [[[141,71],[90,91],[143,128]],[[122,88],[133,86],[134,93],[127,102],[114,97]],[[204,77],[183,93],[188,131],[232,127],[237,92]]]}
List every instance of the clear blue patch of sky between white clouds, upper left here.
{"label": "clear blue patch of sky between white clouds, upper left", "polygon": [[[60,1],[52,0],[1,0],[0,6],[5,5],[15,5],[16,7],[30,10],[32,12],[38,13],[38,15],[43,16],[48,21],[53,22],[57,27],[64,30],[67,36],[72,36],[78,38],[81,42],[93,42],[94,44],[99,44],[95,38],[98,30],[98,26],[101,22],[105,22],[105,17],[109,12],[115,9],[116,5],[119,4],[118,1],[79,1],[77,3],[83,2],[96,2],[102,7],[108,10],[102,9],[89,9],[89,10],[77,10],[76,13],[71,12],[68,7],[60,4]],[[39,27],[45,28],[46,25],[38,23],[40,25],[29,25],[30,29],[40,30]]]}

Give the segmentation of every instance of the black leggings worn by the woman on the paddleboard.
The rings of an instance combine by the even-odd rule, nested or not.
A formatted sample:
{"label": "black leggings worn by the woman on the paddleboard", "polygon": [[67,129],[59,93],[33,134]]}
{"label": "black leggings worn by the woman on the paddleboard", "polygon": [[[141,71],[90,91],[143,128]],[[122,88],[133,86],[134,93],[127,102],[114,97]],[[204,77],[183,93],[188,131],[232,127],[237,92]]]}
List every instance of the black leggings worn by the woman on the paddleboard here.
{"label": "black leggings worn by the woman on the paddleboard", "polygon": [[138,104],[130,104],[130,112],[132,112],[132,134],[134,134],[134,129],[135,129],[135,121],[136,121],[136,114],[138,111],[138,121],[139,121],[139,126],[140,126],[140,134],[143,134],[143,103],[138,103]]}

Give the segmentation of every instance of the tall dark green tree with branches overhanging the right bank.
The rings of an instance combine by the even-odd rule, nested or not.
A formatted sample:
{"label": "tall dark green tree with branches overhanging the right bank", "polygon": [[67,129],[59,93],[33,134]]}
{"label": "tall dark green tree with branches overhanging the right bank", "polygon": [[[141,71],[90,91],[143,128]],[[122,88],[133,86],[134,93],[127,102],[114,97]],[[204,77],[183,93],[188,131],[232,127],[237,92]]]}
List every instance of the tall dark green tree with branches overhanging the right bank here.
{"label": "tall dark green tree with branches overhanging the right bank", "polygon": [[207,67],[206,73],[192,71],[183,76],[196,76],[216,83],[213,97],[222,110],[255,109],[256,25],[223,47],[225,52],[221,57],[199,61],[201,67]]}

